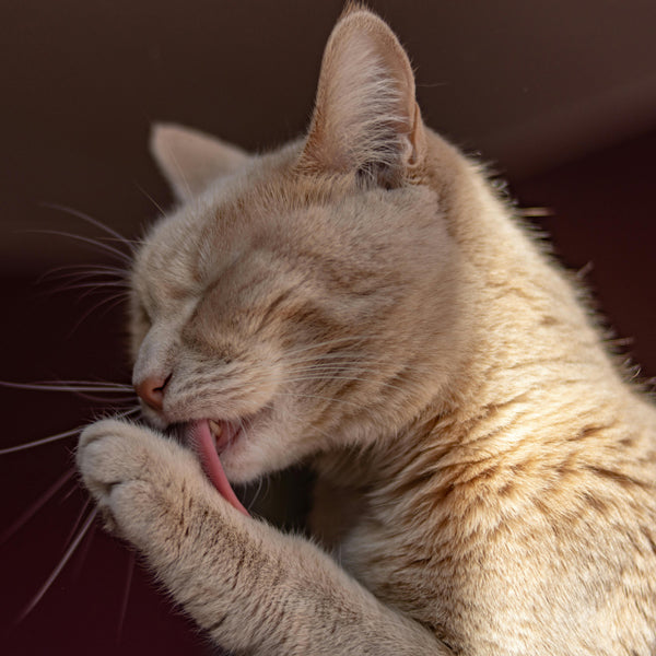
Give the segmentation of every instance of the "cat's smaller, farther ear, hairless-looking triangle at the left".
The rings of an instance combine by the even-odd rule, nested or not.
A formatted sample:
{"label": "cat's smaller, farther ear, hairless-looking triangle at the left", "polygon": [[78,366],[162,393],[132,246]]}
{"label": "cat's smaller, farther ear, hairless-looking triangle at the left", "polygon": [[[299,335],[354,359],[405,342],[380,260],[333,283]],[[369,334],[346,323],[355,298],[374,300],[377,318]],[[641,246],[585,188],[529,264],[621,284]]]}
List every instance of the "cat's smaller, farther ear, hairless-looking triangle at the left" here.
{"label": "cat's smaller, farther ear, hairless-looking triangle at the left", "polygon": [[178,200],[196,196],[248,160],[247,153],[235,145],[173,124],[153,126],[150,150]]}

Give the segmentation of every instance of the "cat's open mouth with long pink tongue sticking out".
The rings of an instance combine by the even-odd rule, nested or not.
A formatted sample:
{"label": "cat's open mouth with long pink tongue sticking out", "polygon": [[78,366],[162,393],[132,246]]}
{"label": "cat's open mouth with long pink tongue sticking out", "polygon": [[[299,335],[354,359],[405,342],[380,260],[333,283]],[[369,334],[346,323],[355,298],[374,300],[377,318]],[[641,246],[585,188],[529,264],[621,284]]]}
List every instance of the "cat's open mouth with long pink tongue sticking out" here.
{"label": "cat's open mouth with long pink tongue sticking out", "polygon": [[239,437],[241,432],[241,425],[227,421],[196,420],[187,424],[187,443],[197,452],[202,468],[219,494],[248,517],[248,511],[232,489],[219,457]]}

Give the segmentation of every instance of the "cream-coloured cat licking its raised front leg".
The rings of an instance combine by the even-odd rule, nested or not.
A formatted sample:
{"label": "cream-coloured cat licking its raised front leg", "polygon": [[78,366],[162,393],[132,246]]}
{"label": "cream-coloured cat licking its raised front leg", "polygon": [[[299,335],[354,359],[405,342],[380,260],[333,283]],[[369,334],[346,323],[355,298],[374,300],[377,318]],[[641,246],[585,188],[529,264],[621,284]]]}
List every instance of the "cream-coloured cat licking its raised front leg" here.
{"label": "cream-coloured cat licking its raised front leg", "polygon": [[[304,138],[256,156],[160,125],[151,147],[178,206],[131,274],[149,425],[87,426],[77,462],[210,639],[656,653],[656,411],[482,167],[423,124],[386,23],[339,19]],[[300,461],[309,538],[229,483]]]}

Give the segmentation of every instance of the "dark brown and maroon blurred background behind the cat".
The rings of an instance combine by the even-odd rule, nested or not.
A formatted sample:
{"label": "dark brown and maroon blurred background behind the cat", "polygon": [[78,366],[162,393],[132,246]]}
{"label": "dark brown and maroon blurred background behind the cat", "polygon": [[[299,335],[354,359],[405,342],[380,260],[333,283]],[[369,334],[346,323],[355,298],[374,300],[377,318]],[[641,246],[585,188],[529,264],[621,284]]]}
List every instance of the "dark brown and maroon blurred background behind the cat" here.
{"label": "dark brown and maroon blurred background behind the cat", "polygon": [[[573,268],[586,267],[626,354],[656,374],[653,0],[375,1],[410,52],[426,121],[494,162]],[[149,160],[154,120],[251,150],[298,134],[341,1],[0,3],[0,379],[128,382],[122,309],[44,274],[109,261],[56,230],[102,237],[60,203],[138,237],[171,197]],[[152,197],[155,202],[151,201]],[[109,243],[114,244],[114,243]],[[591,268],[587,267],[591,262]],[[71,280],[68,280],[71,283]],[[82,297],[81,297],[82,296]],[[0,389],[0,447],[110,407]],[[0,457],[0,534],[71,467],[74,437]],[[129,555],[87,537],[36,609],[85,496],[74,479],[0,544],[3,654],[204,654],[207,644]]]}

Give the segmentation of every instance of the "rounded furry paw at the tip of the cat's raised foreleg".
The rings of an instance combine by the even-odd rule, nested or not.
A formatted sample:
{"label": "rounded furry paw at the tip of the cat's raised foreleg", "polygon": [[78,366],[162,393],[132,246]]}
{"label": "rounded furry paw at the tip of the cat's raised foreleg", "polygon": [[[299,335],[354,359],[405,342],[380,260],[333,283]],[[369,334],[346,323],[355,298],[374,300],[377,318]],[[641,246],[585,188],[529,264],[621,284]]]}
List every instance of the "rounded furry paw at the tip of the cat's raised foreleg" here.
{"label": "rounded furry paw at the tip of the cat's raised foreleg", "polygon": [[125,421],[103,420],[80,436],[77,461],[107,528],[148,548],[179,526],[185,497],[202,481],[194,456],[177,443]]}

